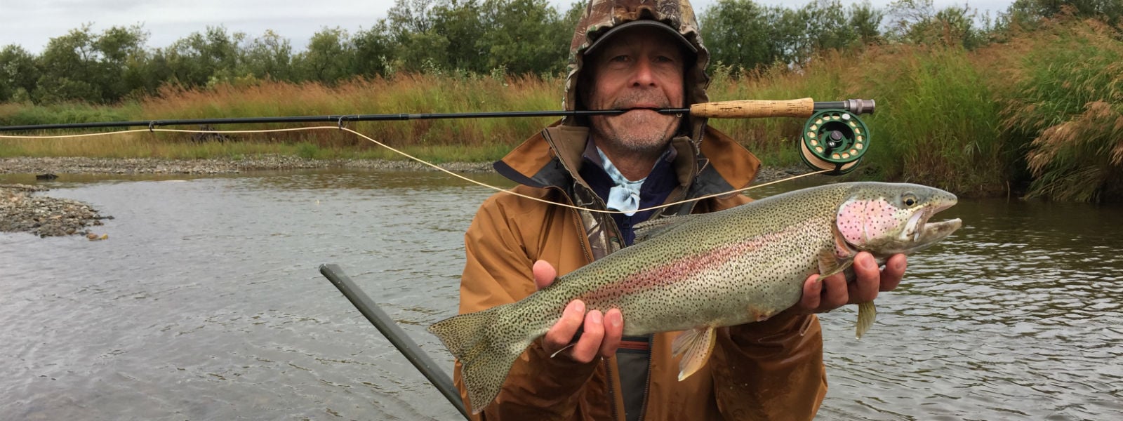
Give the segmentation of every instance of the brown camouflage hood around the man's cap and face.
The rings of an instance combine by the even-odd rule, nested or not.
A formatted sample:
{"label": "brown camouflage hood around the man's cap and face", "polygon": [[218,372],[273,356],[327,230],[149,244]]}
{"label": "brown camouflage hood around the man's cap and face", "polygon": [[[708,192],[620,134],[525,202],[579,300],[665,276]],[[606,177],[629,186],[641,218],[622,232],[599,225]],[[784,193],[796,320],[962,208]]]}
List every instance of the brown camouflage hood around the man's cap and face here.
{"label": "brown camouflage hood around the man's cap and face", "polygon": [[[688,0],[591,0],[577,22],[576,30],[574,30],[573,43],[569,44],[569,64],[564,102],[566,110],[582,107],[578,106],[577,81],[581,79],[585,51],[588,46],[613,27],[645,19],[666,24],[677,30],[696,49],[696,60],[693,64],[687,64],[685,70],[684,86],[686,92],[684,98],[687,106],[709,102],[705,89],[710,84],[710,76],[705,74],[705,66],[710,62],[710,52],[702,45],[694,8]],[[688,135],[694,141],[701,139],[706,119],[690,116],[684,117],[684,119],[685,122],[679,131]],[[567,118],[563,125],[576,126],[581,122],[574,118]]]}

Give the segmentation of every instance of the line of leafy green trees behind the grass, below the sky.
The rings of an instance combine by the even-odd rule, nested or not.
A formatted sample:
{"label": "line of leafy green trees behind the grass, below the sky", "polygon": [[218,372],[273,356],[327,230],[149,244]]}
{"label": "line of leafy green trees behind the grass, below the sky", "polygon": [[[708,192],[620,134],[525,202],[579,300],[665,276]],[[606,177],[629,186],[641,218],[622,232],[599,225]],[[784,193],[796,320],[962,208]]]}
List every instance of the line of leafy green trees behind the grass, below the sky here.
{"label": "line of leafy green trees behind the grass, below the sky", "polygon": [[[547,0],[396,0],[371,28],[323,28],[302,51],[266,30],[257,37],[208,27],[166,47],[147,46],[140,26],[91,26],[51,38],[39,54],[18,45],[0,49],[0,102],[115,103],[186,89],[272,80],[328,85],[399,72],[556,75],[568,56],[584,2],[565,12]],[[814,0],[800,8],[720,0],[700,25],[711,63],[752,70],[798,66],[824,49],[916,43],[976,48],[1001,42],[1012,26],[1058,13],[1097,17],[1115,25],[1119,0],[1016,0],[995,17],[967,6],[937,10],[932,0],[898,0],[886,9]]]}

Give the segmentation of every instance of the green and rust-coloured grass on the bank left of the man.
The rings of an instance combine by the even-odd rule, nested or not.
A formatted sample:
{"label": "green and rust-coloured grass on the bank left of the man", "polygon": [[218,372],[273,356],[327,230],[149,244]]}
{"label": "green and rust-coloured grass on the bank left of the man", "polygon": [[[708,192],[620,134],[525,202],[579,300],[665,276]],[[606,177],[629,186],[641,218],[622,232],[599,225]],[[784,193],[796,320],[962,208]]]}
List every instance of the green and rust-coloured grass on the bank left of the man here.
{"label": "green and rust-coloured grass on the bank left of the man", "polygon": [[[119,107],[0,106],[0,125],[319,116],[358,113],[436,113],[553,110],[562,103],[562,81],[538,77],[401,74],[392,79],[321,84],[263,82],[217,85],[206,90],[164,86],[158,95]],[[503,156],[551,118],[442,119],[348,122],[347,127],[427,159],[491,161]],[[309,123],[305,126],[332,126]],[[291,123],[226,125],[221,130],[294,127]],[[183,127],[199,129],[199,127]],[[346,131],[313,130],[226,135],[229,141],[193,141],[192,134],[143,134],[111,137],[0,139],[4,156],[203,157],[291,154],[318,158],[374,157],[401,159]]]}

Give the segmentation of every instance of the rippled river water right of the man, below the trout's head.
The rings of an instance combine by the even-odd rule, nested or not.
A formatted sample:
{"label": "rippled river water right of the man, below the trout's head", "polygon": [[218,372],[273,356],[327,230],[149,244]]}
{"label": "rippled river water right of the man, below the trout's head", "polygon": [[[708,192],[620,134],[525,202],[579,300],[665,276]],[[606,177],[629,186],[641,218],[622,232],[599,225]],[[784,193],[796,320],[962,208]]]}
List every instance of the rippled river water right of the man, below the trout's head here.
{"label": "rippled river water right of the man, below the trout's head", "polygon": [[[1112,419],[1123,406],[1120,209],[962,201],[964,228],[910,259],[874,330],[823,318],[823,418]],[[907,410],[905,409],[916,409]],[[834,417],[831,417],[834,415]]]}

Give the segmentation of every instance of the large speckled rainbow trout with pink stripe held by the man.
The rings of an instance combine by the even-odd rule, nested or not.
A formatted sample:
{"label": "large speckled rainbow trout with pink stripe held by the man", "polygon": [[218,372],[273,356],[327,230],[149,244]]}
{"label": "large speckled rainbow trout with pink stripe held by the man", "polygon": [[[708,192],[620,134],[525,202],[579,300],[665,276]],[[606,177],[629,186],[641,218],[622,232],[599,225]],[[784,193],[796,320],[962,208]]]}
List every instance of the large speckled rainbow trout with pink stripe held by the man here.
{"label": "large speckled rainbow trout with pink stripe held by the man", "polygon": [[[720,212],[637,226],[637,242],[557,278],[530,296],[429,327],[463,364],[475,412],[492,402],[511,365],[573,300],[620,309],[623,333],[684,330],[672,345],[678,378],[701,368],[715,328],[750,323],[794,305],[807,276],[847,271],[860,250],[880,263],[948,237],[959,219],[929,222],[956,204],[916,184],[844,183],[797,190]],[[859,304],[857,336],[874,322]]]}

